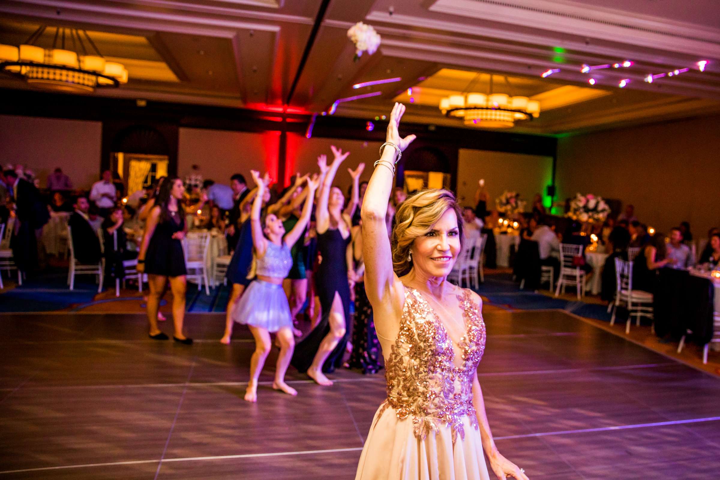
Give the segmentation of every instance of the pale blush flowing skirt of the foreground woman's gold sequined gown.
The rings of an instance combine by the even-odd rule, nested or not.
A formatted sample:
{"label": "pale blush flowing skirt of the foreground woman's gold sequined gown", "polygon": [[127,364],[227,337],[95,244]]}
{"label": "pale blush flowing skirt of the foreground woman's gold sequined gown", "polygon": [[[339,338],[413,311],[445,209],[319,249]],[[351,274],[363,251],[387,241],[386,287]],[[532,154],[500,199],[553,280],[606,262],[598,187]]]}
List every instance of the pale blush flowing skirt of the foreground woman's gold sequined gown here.
{"label": "pale blush flowing skirt of the foreground woman's gold sequined gown", "polygon": [[482,454],[480,431],[467,418],[465,438],[452,443],[450,427],[420,440],[413,433],[412,417],[399,420],[387,407],[375,413],[360,456],[355,480],[489,480]]}

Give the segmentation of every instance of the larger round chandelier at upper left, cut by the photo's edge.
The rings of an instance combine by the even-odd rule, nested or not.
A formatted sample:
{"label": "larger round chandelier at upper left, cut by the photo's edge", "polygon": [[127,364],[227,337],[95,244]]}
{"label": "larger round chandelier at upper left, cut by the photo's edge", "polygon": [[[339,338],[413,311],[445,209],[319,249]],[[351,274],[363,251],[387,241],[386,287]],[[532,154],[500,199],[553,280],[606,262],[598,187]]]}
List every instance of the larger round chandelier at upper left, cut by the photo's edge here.
{"label": "larger round chandelier at upper left, cut by the photo's edge", "polygon": [[19,47],[0,45],[0,71],[34,86],[69,92],[92,92],[98,87],[117,88],[127,83],[125,66],[105,61],[85,30],[55,27],[52,48],[35,45],[47,28],[38,27]]}

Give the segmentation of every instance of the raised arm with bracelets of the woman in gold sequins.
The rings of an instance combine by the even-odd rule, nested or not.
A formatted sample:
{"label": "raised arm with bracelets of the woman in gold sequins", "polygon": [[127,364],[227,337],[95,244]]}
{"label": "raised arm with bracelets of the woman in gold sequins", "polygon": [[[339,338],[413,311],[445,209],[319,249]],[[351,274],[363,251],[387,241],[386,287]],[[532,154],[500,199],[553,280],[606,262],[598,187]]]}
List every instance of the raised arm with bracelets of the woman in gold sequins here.
{"label": "raised arm with bracelets of the woman in gold sequins", "polygon": [[[405,106],[395,104],[387,124],[387,142],[400,151],[415,140],[415,135],[400,137],[397,131]],[[365,262],[365,291],[375,312],[375,327],[379,335],[392,338],[396,325],[385,325],[385,319],[399,319],[405,290],[392,268],[392,252],[387,234],[385,215],[392,191],[397,151],[385,145],[367,185],[361,207],[363,258]]]}

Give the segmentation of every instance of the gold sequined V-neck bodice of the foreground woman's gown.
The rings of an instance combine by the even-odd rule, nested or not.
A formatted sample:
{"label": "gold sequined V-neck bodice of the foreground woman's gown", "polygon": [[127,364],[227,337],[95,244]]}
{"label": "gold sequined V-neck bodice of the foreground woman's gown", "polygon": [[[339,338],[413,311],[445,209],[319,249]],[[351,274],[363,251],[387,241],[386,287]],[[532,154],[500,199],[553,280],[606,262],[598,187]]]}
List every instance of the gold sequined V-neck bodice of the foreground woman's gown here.
{"label": "gold sequined V-neck bodice of the foreground woman's gown", "polygon": [[424,440],[440,425],[449,425],[453,443],[464,438],[462,420],[468,417],[477,430],[472,405],[472,377],[485,350],[485,322],[470,292],[457,296],[464,314],[465,335],[457,343],[462,366],[454,363],[452,340],[436,312],[415,289],[405,291],[400,332],[385,362],[387,407],[397,418],[413,419],[415,437]]}

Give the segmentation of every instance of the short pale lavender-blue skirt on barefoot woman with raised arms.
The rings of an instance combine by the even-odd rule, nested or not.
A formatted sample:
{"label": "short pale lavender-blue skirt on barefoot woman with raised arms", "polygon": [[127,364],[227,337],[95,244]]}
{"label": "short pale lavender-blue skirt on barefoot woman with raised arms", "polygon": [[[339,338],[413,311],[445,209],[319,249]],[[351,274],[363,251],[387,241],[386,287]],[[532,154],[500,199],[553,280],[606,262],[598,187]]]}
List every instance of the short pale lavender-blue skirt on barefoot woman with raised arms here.
{"label": "short pale lavender-blue skirt on barefoot woman with raised arms", "polygon": [[268,332],[292,327],[290,306],[282,285],[258,279],[251,281],[233,312],[233,320],[242,325],[264,328]]}

